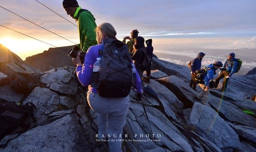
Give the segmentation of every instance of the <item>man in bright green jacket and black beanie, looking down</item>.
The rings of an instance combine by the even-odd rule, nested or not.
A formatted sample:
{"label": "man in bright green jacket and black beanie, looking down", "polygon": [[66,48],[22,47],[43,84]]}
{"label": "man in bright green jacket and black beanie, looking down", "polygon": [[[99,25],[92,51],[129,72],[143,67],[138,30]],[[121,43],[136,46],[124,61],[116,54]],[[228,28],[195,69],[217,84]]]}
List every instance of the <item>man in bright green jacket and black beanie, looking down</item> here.
{"label": "man in bright green jacket and black beanie, looking down", "polygon": [[90,46],[97,45],[95,28],[97,27],[95,23],[95,18],[93,14],[79,7],[76,0],[63,0],[62,3],[67,14],[77,21],[80,44],[75,46],[73,49],[82,52],[87,52]]}

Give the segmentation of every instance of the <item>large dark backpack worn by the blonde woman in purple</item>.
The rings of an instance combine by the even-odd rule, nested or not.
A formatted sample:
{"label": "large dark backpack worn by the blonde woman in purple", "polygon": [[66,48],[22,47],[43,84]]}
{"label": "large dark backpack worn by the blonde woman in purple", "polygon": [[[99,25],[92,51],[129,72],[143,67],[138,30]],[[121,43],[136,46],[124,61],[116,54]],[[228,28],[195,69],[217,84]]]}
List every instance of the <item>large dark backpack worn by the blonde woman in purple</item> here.
{"label": "large dark backpack worn by the blonde woman in purple", "polygon": [[123,98],[131,90],[133,66],[128,46],[117,39],[104,39],[100,50],[98,93],[101,97]]}

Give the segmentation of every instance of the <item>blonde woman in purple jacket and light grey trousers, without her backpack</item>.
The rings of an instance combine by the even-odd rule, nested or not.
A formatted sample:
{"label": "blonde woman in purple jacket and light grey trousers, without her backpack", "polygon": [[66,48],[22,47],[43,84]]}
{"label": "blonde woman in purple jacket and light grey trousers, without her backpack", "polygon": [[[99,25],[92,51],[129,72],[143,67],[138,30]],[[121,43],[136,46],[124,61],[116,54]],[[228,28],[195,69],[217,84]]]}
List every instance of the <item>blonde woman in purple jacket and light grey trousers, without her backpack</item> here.
{"label": "blonde woman in purple jacket and light grey trousers, without her backpack", "polygon": [[[99,96],[97,89],[90,84],[93,75],[93,64],[99,57],[99,50],[102,49],[102,41],[115,40],[116,30],[110,23],[102,23],[96,27],[96,40],[98,45],[91,46],[85,55],[84,64],[81,64],[79,55],[73,58],[76,64],[76,75],[83,86],[88,86],[87,101],[93,109],[98,113],[98,138],[99,140],[108,137],[108,147],[110,152],[122,152],[122,131],[126,123],[126,116],[129,108],[129,96],[124,98],[105,98]],[[120,41],[121,42],[121,41]],[[121,42],[122,43],[122,42]],[[132,63],[132,61],[131,61]],[[136,72],[137,97],[141,99],[142,87],[140,76]]]}

